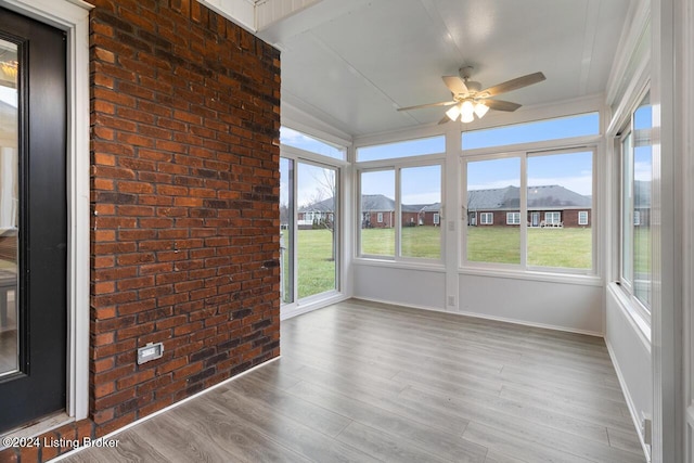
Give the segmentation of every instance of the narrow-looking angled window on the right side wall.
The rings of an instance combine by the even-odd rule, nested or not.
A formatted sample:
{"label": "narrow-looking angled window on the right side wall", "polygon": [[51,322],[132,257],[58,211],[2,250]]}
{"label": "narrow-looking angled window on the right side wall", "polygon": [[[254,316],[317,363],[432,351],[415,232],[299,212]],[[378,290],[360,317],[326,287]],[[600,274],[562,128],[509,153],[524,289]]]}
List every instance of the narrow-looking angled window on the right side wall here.
{"label": "narrow-looking angled window on the right side wall", "polygon": [[644,314],[651,311],[653,178],[650,95],[632,113],[621,138],[620,281],[638,300]]}

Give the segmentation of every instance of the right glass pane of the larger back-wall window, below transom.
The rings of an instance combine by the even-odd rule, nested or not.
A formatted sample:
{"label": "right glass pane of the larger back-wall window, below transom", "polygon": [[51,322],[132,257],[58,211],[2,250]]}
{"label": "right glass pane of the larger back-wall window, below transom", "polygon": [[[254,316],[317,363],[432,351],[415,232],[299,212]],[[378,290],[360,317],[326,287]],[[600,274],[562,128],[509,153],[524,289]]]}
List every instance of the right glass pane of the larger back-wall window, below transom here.
{"label": "right glass pane of the larger back-wall window, below transom", "polygon": [[[590,270],[593,153],[529,156],[527,171],[528,267]],[[537,226],[532,213],[539,214]]]}

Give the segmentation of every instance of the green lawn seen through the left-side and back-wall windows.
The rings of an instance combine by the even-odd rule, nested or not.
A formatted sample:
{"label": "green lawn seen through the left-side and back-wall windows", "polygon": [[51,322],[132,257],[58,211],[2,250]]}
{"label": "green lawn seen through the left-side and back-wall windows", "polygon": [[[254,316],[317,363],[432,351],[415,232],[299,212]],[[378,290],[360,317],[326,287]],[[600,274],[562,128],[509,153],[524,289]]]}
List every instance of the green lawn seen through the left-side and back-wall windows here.
{"label": "green lawn seen through the left-side and back-wall windows", "polygon": [[[285,231],[285,233],[287,233]],[[288,234],[285,235],[288,243]],[[330,230],[299,230],[297,243],[298,297],[304,298],[335,288],[333,234]],[[361,231],[362,254],[395,255],[395,229]],[[402,230],[402,256],[438,259],[440,229],[411,227]],[[291,294],[284,255],[285,294]],[[520,233],[511,227],[468,227],[467,259],[475,262],[519,263]],[[590,269],[592,267],[591,229],[528,229],[527,263],[532,267]],[[285,299],[285,301],[288,301]]]}

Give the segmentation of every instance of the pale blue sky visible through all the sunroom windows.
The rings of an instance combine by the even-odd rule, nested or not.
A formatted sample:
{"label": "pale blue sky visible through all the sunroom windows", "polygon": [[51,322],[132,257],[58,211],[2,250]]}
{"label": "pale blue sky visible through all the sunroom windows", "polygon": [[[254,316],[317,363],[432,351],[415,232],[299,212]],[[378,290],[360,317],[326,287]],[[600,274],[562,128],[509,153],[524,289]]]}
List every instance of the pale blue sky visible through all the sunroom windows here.
{"label": "pale blue sky visible through all the sunroom windows", "polygon": [[[638,112],[637,128],[651,126],[650,106]],[[542,140],[555,140],[599,133],[599,115],[590,113],[578,116],[542,120],[537,123],[505,126],[500,128],[463,132],[464,149],[503,146]],[[281,141],[284,144],[300,147],[331,157],[344,158],[344,152],[329,143],[306,137],[297,131],[282,128]],[[445,151],[445,137],[432,137],[404,142],[360,147],[357,156],[359,160],[390,159],[421,154],[441,153]],[[527,185],[558,184],[582,195],[592,195],[593,191],[593,153],[581,151],[550,154],[529,155],[527,159]],[[312,200],[325,190],[324,168],[299,163],[298,197],[300,206],[310,204]],[[467,189],[496,189],[509,185],[520,185],[519,157],[487,160],[471,160],[467,163]],[[441,168],[439,165],[403,168],[401,170],[402,203],[433,204],[441,201]],[[634,155],[634,178],[637,180],[651,179],[651,147],[637,147]],[[322,180],[321,180],[322,179]],[[362,172],[362,194],[383,194],[395,198],[395,171],[376,170]],[[281,180],[283,197],[287,197],[286,175]],[[323,194],[323,198],[327,197]]]}

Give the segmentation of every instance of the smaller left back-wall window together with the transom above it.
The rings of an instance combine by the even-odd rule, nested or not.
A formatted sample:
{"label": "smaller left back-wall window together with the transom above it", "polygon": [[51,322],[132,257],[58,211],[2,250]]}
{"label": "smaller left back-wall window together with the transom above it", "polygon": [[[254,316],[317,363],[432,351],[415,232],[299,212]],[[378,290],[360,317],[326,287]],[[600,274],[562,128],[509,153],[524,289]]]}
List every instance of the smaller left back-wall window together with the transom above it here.
{"label": "smaller left back-wall window together with the transom above it", "polygon": [[359,257],[442,259],[446,137],[357,147]]}

